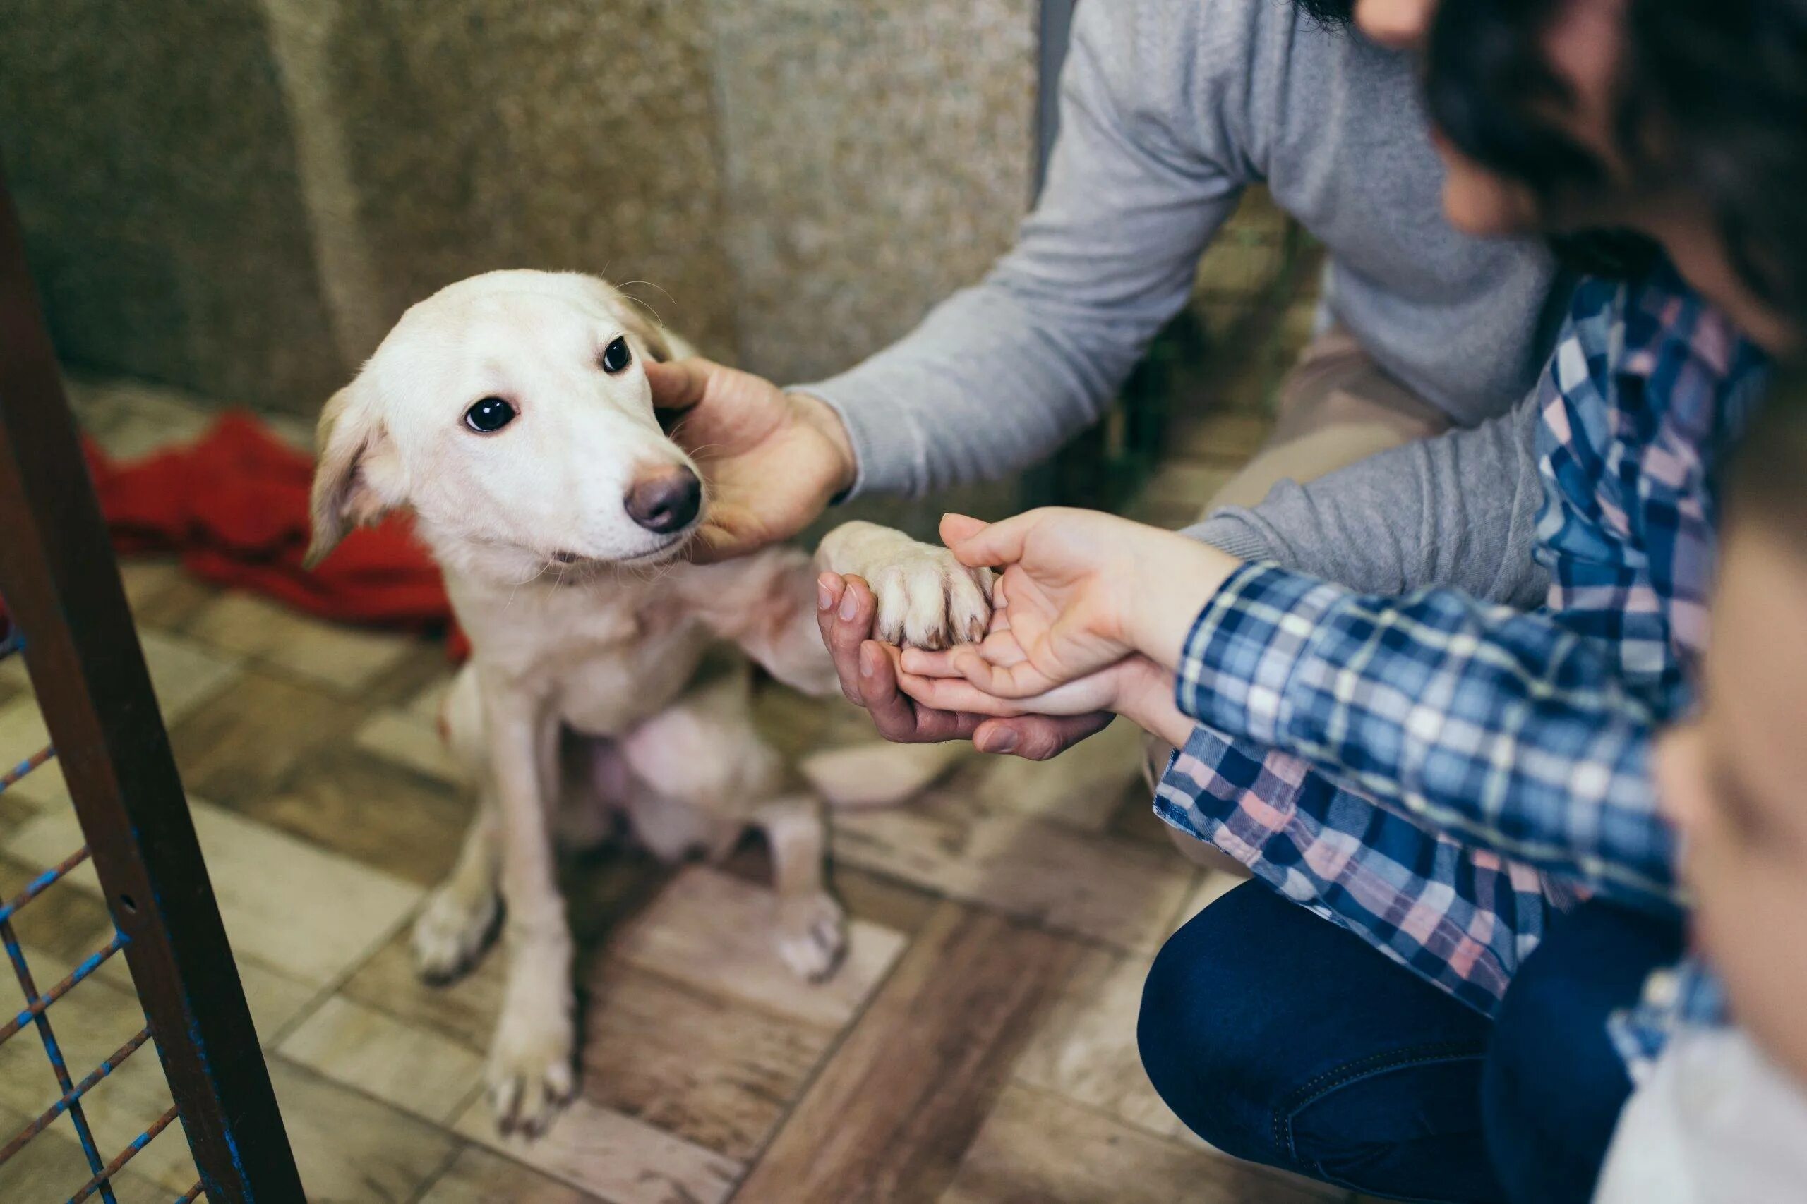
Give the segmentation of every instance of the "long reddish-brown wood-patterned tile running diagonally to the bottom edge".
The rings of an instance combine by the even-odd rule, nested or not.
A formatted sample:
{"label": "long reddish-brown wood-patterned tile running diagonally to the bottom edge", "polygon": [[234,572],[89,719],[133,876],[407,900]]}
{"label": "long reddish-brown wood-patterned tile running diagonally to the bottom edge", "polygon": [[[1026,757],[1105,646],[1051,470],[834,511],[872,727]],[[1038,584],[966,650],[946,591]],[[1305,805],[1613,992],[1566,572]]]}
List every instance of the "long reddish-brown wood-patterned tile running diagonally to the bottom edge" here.
{"label": "long reddish-brown wood-patterned tile running diagonally to the bottom edge", "polygon": [[936,1199],[1081,949],[988,912],[938,906],[737,1204]]}

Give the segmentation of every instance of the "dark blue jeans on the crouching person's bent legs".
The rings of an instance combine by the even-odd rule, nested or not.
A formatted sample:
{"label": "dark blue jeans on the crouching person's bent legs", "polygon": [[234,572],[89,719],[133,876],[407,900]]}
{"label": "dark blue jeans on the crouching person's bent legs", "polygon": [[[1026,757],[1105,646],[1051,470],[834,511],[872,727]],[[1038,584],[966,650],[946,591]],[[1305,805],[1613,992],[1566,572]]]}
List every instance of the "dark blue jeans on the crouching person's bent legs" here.
{"label": "dark blue jeans on the crouching person's bent legs", "polygon": [[[1623,913],[1599,910],[1599,926],[1594,913],[1568,917],[1585,940],[1552,926],[1514,980],[1525,1007],[1509,996],[1496,1023],[1247,883],[1155,959],[1142,1065],[1193,1132],[1236,1157],[1400,1200],[1585,1200],[1628,1090],[1605,1016],[1664,951],[1617,948]],[[1552,1141],[1565,1148],[1543,1166]],[[1543,1170],[1496,1173],[1489,1146]]]}

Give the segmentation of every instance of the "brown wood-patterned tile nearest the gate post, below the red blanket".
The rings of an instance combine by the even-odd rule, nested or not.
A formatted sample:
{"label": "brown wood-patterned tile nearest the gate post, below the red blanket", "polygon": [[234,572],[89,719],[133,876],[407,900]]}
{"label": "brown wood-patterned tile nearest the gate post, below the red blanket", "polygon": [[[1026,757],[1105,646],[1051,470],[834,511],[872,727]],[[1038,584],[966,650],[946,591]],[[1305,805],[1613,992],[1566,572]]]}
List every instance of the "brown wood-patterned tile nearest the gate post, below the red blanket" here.
{"label": "brown wood-patterned tile nearest the gate post, below the red blanket", "polygon": [[188,789],[224,807],[267,796],[296,765],[342,747],[363,717],[325,690],[246,670],[172,724]]}

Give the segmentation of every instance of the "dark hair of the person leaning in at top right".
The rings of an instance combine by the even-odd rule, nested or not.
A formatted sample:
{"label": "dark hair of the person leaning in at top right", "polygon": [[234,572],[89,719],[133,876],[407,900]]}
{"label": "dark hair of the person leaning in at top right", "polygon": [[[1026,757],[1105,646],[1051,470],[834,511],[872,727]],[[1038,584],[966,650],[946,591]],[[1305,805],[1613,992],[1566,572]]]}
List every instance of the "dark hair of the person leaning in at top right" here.
{"label": "dark hair of the person leaning in at top right", "polygon": [[[1556,125],[1574,97],[1540,40],[1561,2],[1449,0],[1426,79],[1456,150],[1525,184],[1558,220],[1612,184]],[[1807,325],[1807,0],[1632,0],[1621,61],[1614,130],[1630,186],[1702,195],[1744,285]],[[1639,274],[1659,255],[1628,231],[1556,242],[1599,274]]]}

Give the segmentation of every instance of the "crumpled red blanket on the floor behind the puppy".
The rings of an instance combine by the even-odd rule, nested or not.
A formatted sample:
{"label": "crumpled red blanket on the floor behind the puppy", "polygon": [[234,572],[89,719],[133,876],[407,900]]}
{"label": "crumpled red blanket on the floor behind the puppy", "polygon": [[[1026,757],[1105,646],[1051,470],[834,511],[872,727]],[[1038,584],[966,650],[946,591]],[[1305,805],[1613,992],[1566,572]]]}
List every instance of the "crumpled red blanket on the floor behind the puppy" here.
{"label": "crumpled red blanket on the floor behind the puppy", "polygon": [[[352,531],[322,565],[307,552],[313,458],[255,419],[226,413],[199,442],[134,464],[85,444],[119,554],[175,552],[215,585],[267,594],[343,623],[443,626],[452,610],[439,569],[405,516]],[[454,653],[463,641],[454,639]]]}

